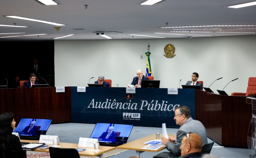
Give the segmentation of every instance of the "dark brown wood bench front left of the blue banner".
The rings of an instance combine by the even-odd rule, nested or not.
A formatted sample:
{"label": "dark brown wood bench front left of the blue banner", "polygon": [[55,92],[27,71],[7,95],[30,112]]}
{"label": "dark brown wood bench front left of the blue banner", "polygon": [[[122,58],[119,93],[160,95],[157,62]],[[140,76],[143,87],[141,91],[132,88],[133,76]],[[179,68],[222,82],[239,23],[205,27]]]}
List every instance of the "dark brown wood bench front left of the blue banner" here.
{"label": "dark brown wood bench front left of the blue banner", "polygon": [[21,118],[71,122],[71,87],[56,93],[55,87],[0,89],[0,114],[13,112],[16,125]]}

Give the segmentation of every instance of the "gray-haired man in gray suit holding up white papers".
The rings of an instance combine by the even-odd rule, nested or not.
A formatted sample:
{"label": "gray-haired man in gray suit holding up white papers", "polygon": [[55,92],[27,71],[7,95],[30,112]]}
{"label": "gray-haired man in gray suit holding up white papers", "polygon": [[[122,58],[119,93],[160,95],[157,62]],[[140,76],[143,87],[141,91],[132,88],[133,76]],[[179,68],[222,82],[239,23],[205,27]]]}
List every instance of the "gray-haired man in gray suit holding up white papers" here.
{"label": "gray-haired man in gray suit holding up white papers", "polygon": [[203,144],[207,144],[207,135],[204,125],[197,120],[191,118],[190,109],[187,106],[179,106],[175,108],[174,120],[176,124],[181,126],[177,131],[177,138],[169,136],[168,139],[162,137],[162,142],[173,155],[181,155],[181,141],[187,133],[196,133],[200,135]]}

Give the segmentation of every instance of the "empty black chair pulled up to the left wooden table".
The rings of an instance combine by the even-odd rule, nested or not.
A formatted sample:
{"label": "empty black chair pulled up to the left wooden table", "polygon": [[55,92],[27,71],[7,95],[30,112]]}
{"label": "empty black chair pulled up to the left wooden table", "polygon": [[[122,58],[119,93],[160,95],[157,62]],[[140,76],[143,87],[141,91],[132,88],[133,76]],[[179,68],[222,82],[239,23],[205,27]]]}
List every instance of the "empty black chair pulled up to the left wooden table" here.
{"label": "empty black chair pulled up to the left wooden table", "polygon": [[51,158],[80,158],[76,149],[70,148],[49,148]]}

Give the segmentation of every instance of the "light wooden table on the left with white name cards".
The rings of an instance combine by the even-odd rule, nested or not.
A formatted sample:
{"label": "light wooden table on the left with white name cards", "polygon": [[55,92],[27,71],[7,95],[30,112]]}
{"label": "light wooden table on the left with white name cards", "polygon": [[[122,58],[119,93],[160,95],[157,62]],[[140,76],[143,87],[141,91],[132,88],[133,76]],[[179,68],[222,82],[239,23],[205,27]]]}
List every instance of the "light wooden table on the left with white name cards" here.
{"label": "light wooden table on the left with white name cards", "polygon": [[[20,140],[20,142],[26,142],[26,143],[38,143],[39,140]],[[52,146],[51,144],[47,144],[50,147]],[[103,158],[103,153],[104,152],[108,152],[110,150],[114,150],[115,147],[109,147],[109,146],[100,146],[99,152],[91,152],[93,150],[93,148],[83,148],[83,147],[78,147],[78,144],[75,143],[60,143],[58,144],[60,147],[59,148],[82,148],[82,149],[86,149],[85,151],[79,152],[79,155],[81,156],[100,156],[100,158]],[[35,152],[49,152],[49,148],[48,149],[34,149],[33,151]]]}

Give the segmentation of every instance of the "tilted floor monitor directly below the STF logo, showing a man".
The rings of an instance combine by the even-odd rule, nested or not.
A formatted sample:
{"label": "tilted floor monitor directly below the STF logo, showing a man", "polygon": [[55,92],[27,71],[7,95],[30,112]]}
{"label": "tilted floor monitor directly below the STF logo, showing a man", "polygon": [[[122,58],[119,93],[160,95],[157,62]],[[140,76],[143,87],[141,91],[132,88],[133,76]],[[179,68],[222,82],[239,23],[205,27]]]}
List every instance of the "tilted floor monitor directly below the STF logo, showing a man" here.
{"label": "tilted floor monitor directly below the STF logo, showing a man", "polygon": [[[98,139],[103,146],[119,146],[127,143],[132,127],[133,125],[97,123],[90,138]],[[108,135],[109,133],[111,134]]]}

